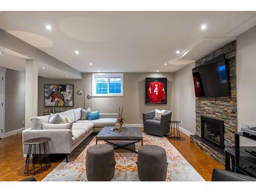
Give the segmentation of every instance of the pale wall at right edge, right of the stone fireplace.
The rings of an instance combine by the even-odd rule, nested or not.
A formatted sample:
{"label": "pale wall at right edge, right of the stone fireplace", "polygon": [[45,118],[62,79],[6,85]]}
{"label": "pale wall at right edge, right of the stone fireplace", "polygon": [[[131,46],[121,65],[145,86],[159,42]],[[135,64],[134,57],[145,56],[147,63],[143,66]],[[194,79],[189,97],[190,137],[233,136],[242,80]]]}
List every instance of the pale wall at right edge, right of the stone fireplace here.
{"label": "pale wall at right edge, right of the stone fireplace", "polygon": [[[242,122],[256,124],[256,26],[237,37],[238,131]],[[241,145],[253,144],[248,140]]]}

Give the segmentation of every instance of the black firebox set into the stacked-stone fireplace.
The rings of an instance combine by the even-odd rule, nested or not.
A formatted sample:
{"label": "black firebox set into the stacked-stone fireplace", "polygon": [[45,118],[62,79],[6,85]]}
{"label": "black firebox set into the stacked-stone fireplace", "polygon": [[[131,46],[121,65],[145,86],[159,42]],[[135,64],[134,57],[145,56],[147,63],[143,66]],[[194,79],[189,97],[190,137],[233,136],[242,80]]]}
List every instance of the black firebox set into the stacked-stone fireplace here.
{"label": "black firebox set into the stacked-stone fireplace", "polygon": [[201,138],[224,150],[224,121],[201,116]]}

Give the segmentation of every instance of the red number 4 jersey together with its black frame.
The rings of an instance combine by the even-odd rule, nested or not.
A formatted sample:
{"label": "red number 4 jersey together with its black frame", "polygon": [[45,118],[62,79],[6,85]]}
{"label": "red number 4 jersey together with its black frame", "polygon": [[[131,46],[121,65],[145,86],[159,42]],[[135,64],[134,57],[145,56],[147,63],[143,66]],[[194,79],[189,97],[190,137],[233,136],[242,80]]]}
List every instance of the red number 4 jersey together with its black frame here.
{"label": "red number 4 jersey together with its black frame", "polygon": [[146,78],[146,103],[166,104],[167,78]]}

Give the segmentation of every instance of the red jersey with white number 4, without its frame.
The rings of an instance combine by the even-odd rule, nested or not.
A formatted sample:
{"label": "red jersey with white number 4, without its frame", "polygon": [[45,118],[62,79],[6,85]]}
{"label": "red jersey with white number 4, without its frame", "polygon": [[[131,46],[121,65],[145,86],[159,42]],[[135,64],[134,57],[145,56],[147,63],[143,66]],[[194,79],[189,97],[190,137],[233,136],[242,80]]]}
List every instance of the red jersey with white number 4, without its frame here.
{"label": "red jersey with white number 4, without its frame", "polygon": [[165,99],[165,92],[162,82],[150,82],[147,88],[147,96],[150,102],[161,103]]}

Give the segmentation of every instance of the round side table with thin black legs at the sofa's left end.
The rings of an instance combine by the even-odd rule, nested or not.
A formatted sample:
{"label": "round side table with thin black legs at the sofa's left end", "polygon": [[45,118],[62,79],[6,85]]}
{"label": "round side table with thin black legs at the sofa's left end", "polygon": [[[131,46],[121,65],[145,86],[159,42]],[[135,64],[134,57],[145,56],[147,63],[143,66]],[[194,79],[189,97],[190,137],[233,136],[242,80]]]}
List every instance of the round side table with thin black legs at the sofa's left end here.
{"label": "round side table with thin black legs at the sofa's left end", "polygon": [[[48,137],[40,137],[40,138],[29,139],[23,142],[23,144],[29,145],[29,150],[26,158],[25,171],[24,171],[25,174],[35,175],[37,173],[42,173],[43,168],[48,169],[50,167],[51,164],[49,163],[47,148],[46,148],[46,143],[49,142],[50,140],[51,138],[48,138]],[[36,154],[36,145],[38,145],[39,154]],[[45,164],[46,164],[45,166],[42,166],[41,145],[42,147],[44,147]],[[33,146],[33,153],[32,153],[32,159],[31,159],[30,157],[31,157],[32,146]],[[35,157],[37,157],[38,155],[39,155],[39,166],[35,167],[35,161],[36,161]],[[30,160],[32,160],[32,165],[33,165],[32,169],[29,169]],[[37,168],[41,168],[41,172],[35,172]]]}

